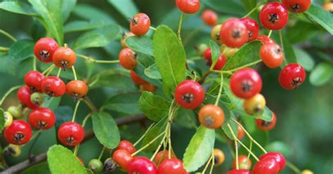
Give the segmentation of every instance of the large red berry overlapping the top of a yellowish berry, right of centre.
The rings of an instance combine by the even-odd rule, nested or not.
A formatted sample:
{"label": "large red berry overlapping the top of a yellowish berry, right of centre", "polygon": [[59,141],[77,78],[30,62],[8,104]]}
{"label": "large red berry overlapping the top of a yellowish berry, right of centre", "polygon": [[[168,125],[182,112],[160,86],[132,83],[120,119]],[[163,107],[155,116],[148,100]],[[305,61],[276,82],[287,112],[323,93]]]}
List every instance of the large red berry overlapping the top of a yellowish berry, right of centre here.
{"label": "large red berry overlapping the top of a yellowish berry, right of centre", "polygon": [[238,98],[252,98],[262,85],[261,76],[252,68],[240,69],[230,79],[230,89]]}

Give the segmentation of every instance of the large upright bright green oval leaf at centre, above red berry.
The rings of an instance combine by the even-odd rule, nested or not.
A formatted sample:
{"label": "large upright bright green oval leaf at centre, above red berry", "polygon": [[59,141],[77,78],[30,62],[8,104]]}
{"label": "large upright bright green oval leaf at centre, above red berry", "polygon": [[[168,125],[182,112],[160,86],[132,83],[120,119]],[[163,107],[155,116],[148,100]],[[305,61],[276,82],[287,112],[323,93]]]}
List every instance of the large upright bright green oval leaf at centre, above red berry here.
{"label": "large upright bright green oval leaf at centre, above red berry", "polygon": [[163,78],[163,91],[167,97],[185,79],[185,51],[176,34],[165,25],[157,27],[152,43],[155,62]]}

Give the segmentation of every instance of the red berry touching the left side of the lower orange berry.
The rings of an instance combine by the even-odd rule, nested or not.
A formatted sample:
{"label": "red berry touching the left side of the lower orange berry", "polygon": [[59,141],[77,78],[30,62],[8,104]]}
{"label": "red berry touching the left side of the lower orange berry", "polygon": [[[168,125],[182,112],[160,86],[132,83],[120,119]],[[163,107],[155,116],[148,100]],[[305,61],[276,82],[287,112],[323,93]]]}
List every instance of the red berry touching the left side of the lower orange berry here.
{"label": "red berry touching the left side of the lower orange berry", "polygon": [[48,76],[41,81],[41,91],[50,97],[60,97],[65,94],[66,86],[62,79]]}

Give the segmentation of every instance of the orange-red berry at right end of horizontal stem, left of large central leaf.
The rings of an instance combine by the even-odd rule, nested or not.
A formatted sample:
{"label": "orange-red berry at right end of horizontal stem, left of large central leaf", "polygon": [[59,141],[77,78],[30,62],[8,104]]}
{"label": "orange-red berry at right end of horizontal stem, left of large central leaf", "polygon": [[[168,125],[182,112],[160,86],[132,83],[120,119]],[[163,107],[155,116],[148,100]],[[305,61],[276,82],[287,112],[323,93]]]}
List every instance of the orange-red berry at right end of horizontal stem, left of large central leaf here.
{"label": "orange-red berry at right end of horizontal stem, left of large central leaf", "polygon": [[126,69],[135,69],[136,64],[138,64],[136,52],[132,51],[130,48],[122,49],[119,53],[119,64]]}

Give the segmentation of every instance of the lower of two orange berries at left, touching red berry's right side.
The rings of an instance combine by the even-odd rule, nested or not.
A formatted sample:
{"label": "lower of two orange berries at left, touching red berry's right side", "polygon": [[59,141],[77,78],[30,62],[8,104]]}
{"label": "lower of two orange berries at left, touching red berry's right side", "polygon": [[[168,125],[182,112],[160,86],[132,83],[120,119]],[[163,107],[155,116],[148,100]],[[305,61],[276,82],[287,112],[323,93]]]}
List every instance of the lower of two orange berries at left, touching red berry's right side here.
{"label": "lower of two orange berries at left, touching red berry's right side", "polygon": [[70,81],[66,84],[66,93],[74,100],[79,100],[80,98],[86,96],[88,93],[88,86],[86,86],[84,81]]}

